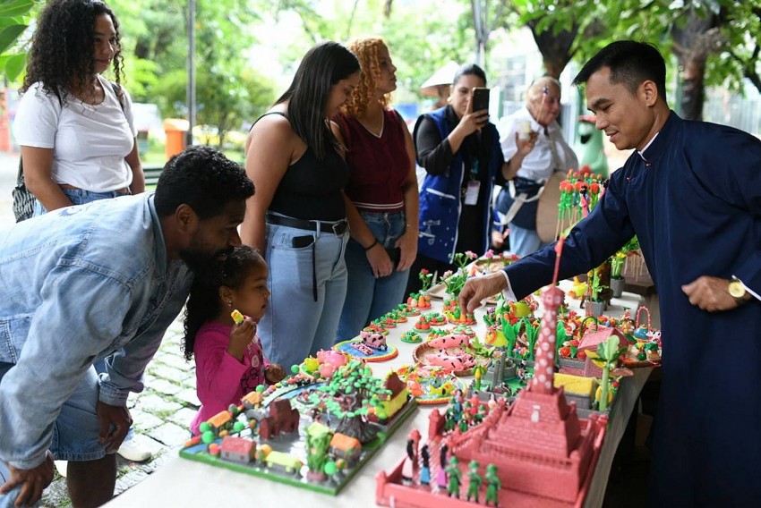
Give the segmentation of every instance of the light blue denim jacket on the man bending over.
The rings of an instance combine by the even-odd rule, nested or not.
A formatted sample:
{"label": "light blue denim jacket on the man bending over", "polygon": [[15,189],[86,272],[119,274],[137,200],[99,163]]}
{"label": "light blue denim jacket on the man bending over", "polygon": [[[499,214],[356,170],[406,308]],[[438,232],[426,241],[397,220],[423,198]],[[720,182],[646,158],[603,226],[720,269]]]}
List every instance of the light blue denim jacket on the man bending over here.
{"label": "light blue denim jacket on the man bending over", "polygon": [[0,230],[0,457],[30,469],[93,361],[99,399],[125,405],[184,305],[192,275],[167,261],[153,194],[65,207]]}

